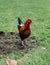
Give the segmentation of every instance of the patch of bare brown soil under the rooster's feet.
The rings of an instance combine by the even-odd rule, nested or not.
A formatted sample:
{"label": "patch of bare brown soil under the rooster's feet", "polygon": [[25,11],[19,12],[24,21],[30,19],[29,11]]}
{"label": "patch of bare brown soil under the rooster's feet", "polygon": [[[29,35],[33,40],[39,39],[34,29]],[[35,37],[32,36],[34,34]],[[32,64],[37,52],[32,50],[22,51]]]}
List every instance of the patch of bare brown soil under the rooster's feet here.
{"label": "patch of bare brown soil under the rooster's feet", "polygon": [[24,41],[24,46],[21,44],[19,34],[14,32],[0,32],[0,54],[10,54],[13,51],[18,51],[22,55],[27,53],[32,48],[38,47],[36,37],[29,37]]}

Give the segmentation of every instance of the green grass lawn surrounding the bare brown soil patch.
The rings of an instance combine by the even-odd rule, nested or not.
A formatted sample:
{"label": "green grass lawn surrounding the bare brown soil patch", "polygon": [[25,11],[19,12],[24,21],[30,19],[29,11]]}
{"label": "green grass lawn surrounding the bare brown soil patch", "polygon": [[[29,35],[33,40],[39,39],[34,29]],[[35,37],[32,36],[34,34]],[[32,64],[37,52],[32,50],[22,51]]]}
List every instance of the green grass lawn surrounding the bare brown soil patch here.
{"label": "green grass lawn surrounding the bare brown soil patch", "polygon": [[[50,2],[49,0],[0,0],[0,31],[18,32],[17,18],[23,21],[32,19],[31,36],[36,36],[40,42],[37,49],[28,52],[20,60],[19,65],[49,65],[50,64]],[[46,50],[41,48],[45,47]],[[9,58],[18,59],[18,54],[12,53]],[[6,65],[2,58],[0,65]]]}

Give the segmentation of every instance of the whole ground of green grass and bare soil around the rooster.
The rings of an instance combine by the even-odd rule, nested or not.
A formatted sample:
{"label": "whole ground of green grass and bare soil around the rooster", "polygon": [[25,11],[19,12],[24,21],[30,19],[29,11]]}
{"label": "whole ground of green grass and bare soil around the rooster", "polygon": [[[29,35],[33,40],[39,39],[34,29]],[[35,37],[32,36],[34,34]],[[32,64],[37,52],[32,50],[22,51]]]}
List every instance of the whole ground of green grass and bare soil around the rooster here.
{"label": "whole ground of green grass and bare soil around the rooster", "polygon": [[[28,18],[32,19],[30,37],[34,42],[38,42],[37,47],[34,42],[30,43],[29,37],[26,40],[29,47],[21,49],[18,17],[23,22]],[[50,65],[50,0],[0,0],[1,31],[4,35],[0,35],[0,65],[6,65],[6,59],[21,60],[18,65]]]}

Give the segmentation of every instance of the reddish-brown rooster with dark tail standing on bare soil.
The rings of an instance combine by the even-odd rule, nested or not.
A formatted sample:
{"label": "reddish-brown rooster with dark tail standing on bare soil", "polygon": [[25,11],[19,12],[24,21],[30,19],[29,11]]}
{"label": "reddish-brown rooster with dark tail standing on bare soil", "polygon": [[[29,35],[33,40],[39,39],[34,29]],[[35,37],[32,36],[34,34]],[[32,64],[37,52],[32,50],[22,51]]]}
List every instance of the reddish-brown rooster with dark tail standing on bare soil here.
{"label": "reddish-brown rooster with dark tail standing on bare soil", "polygon": [[19,36],[22,40],[22,45],[24,46],[24,39],[28,38],[31,34],[30,30],[30,24],[32,23],[31,19],[26,20],[25,23],[21,21],[21,19],[18,17],[18,30],[19,30]]}

